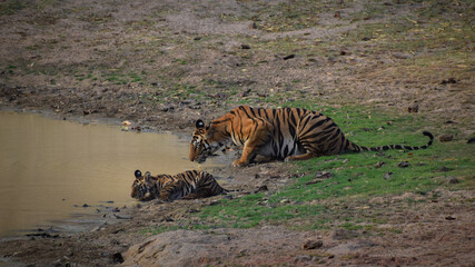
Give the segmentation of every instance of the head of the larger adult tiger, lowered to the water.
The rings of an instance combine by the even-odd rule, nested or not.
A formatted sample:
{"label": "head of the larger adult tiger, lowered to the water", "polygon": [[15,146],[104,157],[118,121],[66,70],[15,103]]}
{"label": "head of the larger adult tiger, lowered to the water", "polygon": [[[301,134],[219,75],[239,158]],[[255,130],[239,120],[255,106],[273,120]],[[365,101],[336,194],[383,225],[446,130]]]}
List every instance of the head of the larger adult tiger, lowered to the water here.
{"label": "head of the larger adult tiger, lowered to the water", "polygon": [[211,146],[206,138],[209,134],[209,129],[210,127],[205,127],[205,122],[202,122],[202,120],[199,119],[196,121],[196,130],[190,144],[189,160],[196,160],[198,164],[201,164],[212,154]]}

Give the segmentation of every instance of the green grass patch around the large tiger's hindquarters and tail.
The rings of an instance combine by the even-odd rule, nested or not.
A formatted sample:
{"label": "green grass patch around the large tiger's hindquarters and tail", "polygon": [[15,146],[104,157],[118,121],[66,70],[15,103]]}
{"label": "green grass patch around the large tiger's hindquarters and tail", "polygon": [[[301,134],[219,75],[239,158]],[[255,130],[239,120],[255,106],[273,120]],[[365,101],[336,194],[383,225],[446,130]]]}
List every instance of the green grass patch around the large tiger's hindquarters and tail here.
{"label": "green grass patch around the large tiger's hindquarters and tail", "polygon": [[[436,129],[426,125],[422,116],[394,116],[357,107],[336,109],[301,102],[293,105],[325,110],[348,134],[350,140],[364,146],[422,146],[428,141],[422,135],[423,130],[435,130],[433,134],[437,135]],[[374,197],[412,192],[427,198],[417,201],[409,198],[406,205],[410,206],[437,198],[437,188],[473,189],[475,149],[469,146],[473,145],[457,140],[444,144],[435,141],[425,150],[348,152],[297,161],[294,168],[306,175],[295,178],[286,188],[237,199],[222,199],[192,216],[195,221],[200,221],[200,226],[180,221],[179,228],[249,228],[270,224],[309,230],[327,229],[336,224],[348,230],[376,229],[377,225],[386,222],[384,214],[388,210],[369,205]],[[403,161],[407,161],[408,167],[399,167]],[[315,174],[320,171],[331,172],[333,177],[316,179]],[[451,176],[456,177],[459,182],[449,184],[447,178]]]}

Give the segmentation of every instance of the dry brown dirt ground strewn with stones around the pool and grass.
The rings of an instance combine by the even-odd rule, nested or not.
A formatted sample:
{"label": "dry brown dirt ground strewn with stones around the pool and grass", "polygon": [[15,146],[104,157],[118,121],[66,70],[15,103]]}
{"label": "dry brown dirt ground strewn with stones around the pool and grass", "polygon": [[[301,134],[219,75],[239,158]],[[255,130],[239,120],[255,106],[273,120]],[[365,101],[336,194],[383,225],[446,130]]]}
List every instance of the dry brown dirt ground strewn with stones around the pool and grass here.
{"label": "dry brown dirt ground strewn with stones around the pool and grass", "polygon": [[[4,107],[67,119],[130,120],[188,135],[197,118],[216,118],[243,100],[278,107],[305,99],[399,113],[416,103],[428,123],[451,120],[472,126],[459,129],[461,138],[473,135],[474,40],[448,36],[463,29],[456,22],[446,24],[468,20],[473,30],[473,3],[443,4],[434,14],[439,22],[424,13],[434,6],[419,1],[0,4]],[[403,28],[394,29],[398,23]],[[402,31],[407,39],[397,39]],[[445,41],[455,49],[445,52]],[[399,49],[392,42],[412,47]],[[235,177],[232,189],[243,191],[234,197],[264,185],[278,190],[293,175],[281,162],[217,174]],[[280,179],[273,178],[276,174]],[[429,196],[403,195],[342,210],[379,214],[386,221],[380,235],[337,227],[290,231],[278,224],[152,237],[140,231],[172,226],[222,198],[214,197],[152,201],[121,209],[119,217],[105,214],[107,224],[91,231],[42,233],[1,243],[0,256],[13,260],[9,265],[30,266],[474,266],[473,191],[437,194],[437,201],[409,205],[406,198]],[[304,248],[307,243],[316,247]]]}

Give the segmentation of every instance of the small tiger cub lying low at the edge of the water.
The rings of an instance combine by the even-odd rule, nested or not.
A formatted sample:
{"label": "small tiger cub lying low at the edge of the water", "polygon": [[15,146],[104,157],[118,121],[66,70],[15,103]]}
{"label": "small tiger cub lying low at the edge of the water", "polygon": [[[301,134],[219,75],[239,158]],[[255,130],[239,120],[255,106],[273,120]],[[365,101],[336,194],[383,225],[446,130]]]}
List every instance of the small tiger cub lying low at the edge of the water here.
{"label": "small tiger cub lying low at the edge of the water", "polygon": [[136,170],[135,176],[136,180],[132,184],[130,196],[141,201],[154,198],[176,200],[211,197],[228,191],[220,187],[210,174],[205,171],[187,170],[176,176],[151,176],[147,171],[142,176],[140,170]]}

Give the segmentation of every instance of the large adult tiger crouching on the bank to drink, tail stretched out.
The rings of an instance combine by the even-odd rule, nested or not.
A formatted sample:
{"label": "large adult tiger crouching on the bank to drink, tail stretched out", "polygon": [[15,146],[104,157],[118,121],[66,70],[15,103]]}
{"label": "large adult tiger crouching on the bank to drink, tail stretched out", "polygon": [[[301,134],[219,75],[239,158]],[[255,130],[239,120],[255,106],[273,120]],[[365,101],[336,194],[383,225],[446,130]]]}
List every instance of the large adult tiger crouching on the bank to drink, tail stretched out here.
{"label": "large adult tiger crouching on the bank to drink, tail stretched out", "polygon": [[380,151],[387,149],[424,149],[432,145],[434,136],[425,146],[410,147],[387,145],[363,147],[348,140],[339,127],[327,116],[301,108],[264,109],[240,106],[205,127],[196,121],[189,159],[204,161],[212,154],[215,144],[231,140],[244,146],[240,159],[232,166],[246,166],[256,155],[284,159],[285,161],[338,155],[344,151]]}

